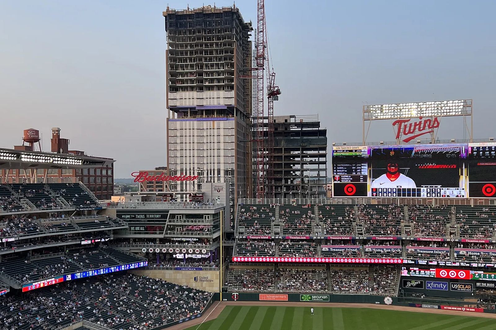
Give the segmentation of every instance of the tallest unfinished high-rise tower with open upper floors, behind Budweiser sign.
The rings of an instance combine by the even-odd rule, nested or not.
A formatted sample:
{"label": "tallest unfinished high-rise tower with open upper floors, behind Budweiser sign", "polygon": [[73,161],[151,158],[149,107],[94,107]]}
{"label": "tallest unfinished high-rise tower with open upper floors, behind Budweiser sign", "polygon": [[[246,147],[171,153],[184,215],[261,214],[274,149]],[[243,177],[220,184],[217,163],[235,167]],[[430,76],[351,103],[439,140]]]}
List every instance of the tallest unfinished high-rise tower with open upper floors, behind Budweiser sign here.
{"label": "tallest unfinished high-rise tower with open upper floors, behind Budweiser sign", "polygon": [[[235,6],[163,12],[167,32],[167,164],[171,175],[197,175],[171,190],[230,183],[235,201],[251,190],[249,127],[253,30]],[[245,76],[245,77],[244,77]]]}

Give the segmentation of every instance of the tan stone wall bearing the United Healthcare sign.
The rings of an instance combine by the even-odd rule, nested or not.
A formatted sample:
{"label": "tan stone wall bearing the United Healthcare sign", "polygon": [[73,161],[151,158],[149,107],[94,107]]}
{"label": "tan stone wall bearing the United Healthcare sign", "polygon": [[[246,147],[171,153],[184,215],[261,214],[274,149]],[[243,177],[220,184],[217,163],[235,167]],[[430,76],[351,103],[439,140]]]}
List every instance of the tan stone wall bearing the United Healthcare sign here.
{"label": "tan stone wall bearing the United Healthcare sign", "polygon": [[153,279],[162,279],[180,285],[187,285],[208,292],[219,292],[220,290],[220,271],[136,269],[129,271],[129,273],[139,276],[148,276]]}

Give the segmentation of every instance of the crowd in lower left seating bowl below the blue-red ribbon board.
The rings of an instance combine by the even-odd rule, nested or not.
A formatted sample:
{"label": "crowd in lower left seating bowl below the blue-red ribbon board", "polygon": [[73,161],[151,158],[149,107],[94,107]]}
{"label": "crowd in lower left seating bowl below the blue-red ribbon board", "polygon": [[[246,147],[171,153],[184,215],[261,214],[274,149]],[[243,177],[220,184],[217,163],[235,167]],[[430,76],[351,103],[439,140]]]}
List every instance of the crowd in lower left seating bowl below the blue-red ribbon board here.
{"label": "crowd in lower left seating bowl below the blue-red ribbon board", "polygon": [[86,319],[115,330],[148,330],[201,313],[210,297],[162,280],[113,274],[7,296],[0,328],[54,330]]}

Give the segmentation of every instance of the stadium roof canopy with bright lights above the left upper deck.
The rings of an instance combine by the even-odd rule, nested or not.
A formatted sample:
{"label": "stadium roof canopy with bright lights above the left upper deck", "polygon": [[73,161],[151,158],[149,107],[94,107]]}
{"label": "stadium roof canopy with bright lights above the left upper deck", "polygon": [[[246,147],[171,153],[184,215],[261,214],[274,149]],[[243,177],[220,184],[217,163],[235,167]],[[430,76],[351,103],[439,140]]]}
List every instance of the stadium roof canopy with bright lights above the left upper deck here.
{"label": "stadium roof canopy with bright lights above the left upper deck", "polygon": [[110,166],[114,159],[0,148],[0,169],[75,169]]}

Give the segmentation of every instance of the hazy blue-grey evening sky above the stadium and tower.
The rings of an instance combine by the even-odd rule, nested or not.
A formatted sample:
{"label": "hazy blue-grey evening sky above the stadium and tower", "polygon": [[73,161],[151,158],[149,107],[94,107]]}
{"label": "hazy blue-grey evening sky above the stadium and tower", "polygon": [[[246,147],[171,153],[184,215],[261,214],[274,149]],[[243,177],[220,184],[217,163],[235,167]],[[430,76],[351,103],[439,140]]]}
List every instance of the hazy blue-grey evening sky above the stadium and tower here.
{"label": "hazy blue-grey evening sky above the stadium and tower", "polygon": [[[237,0],[256,26],[256,1]],[[50,150],[116,159],[115,177],[166,165],[162,11],[202,1],[0,0],[0,146],[40,130]],[[231,6],[232,1],[216,1]],[[318,114],[331,142],[362,141],[364,104],[473,99],[474,138],[496,137],[496,1],[266,0],[275,115]],[[444,125],[443,125],[444,124]],[[462,138],[459,118],[441,139]],[[374,122],[368,141],[393,141]]]}

